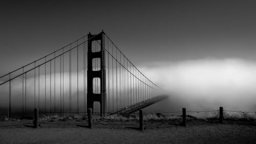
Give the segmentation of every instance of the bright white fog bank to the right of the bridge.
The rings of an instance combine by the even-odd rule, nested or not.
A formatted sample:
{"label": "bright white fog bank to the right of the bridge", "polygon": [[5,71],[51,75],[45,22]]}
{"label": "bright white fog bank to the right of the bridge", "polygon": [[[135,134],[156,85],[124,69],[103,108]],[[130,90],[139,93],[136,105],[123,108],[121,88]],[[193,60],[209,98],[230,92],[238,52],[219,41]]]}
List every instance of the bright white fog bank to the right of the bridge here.
{"label": "bright white fog bank to the right of the bridge", "polygon": [[201,59],[147,63],[142,73],[170,94],[150,110],[256,110],[256,61]]}

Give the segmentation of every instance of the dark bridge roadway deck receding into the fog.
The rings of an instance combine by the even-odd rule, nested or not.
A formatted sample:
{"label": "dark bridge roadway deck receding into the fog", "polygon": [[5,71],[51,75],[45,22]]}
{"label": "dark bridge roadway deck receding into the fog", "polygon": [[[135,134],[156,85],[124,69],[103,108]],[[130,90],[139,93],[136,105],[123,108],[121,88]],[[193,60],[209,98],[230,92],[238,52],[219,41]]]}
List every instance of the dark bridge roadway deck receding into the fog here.
{"label": "dark bridge roadway deck receding into the fog", "polygon": [[167,98],[167,95],[159,95],[157,97],[154,97],[154,98],[151,98],[151,99],[147,99],[145,101],[142,101],[142,102],[139,102],[139,103],[136,103],[136,104],[133,104],[133,105],[130,105],[130,106],[127,106],[127,107],[124,107],[124,108],[121,108],[121,109],[118,109],[118,110],[115,110],[113,112],[110,112],[108,114],[112,115],[112,114],[118,114],[118,115],[129,115],[129,114],[132,114],[140,109],[143,109],[145,107],[148,107],[150,105],[153,105],[159,101],[162,101],[164,99]]}

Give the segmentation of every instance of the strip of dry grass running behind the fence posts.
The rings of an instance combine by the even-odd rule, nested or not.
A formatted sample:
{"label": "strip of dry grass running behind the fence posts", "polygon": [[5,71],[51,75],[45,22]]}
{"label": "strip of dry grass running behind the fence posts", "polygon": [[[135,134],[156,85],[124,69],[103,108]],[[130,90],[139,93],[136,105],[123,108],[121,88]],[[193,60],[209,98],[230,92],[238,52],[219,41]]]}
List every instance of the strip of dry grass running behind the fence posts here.
{"label": "strip of dry grass running behind the fence posts", "polygon": [[[223,112],[224,119],[229,120],[242,120],[242,121],[256,121],[256,113],[248,113],[248,112],[232,112],[227,113],[226,111]],[[152,114],[144,114],[144,121],[157,121],[157,120],[170,120],[170,119],[181,119],[181,115],[168,115],[168,114],[161,114],[161,113],[152,113]],[[217,119],[219,118],[219,111],[212,111],[212,112],[204,112],[201,114],[195,114],[193,116],[188,115],[187,119],[203,119],[207,121],[207,119]],[[27,117],[19,117],[14,116],[10,119],[17,120],[17,119],[33,119],[33,116]],[[41,114],[39,117],[40,121],[69,121],[69,120],[87,120],[87,114]],[[100,117],[99,115],[93,115],[93,120],[117,120],[117,121],[129,121],[129,120],[138,120],[139,116],[136,114],[131,114],[128,116],[121,116],[117,114],[113,115],[106,115],[105,117]],[[6,121],[7,116],[2,115],[0,116],[1,121]]]}

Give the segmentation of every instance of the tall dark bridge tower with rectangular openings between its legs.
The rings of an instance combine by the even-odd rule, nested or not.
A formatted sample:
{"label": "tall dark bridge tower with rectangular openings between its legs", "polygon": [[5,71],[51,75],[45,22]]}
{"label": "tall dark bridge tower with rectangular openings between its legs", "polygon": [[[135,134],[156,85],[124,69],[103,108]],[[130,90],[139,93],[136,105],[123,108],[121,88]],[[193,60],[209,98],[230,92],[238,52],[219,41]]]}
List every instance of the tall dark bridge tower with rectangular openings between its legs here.
{"label": "tall dark bridge tower with rectangular openings between its legs", "polygon": [[[100,40],[100,51],[92,52],[92,42]],[[100,59],[100,70],[93,70],[93,59]],[[106,70],[105,70],[105,33],[88,35],[88,70],[87,70],[87,108],[93,109],[94,102],[100,103],[100,116],[105,114],[106,108]],[[100,93],[93,93],[93,79],[100,79]]]}

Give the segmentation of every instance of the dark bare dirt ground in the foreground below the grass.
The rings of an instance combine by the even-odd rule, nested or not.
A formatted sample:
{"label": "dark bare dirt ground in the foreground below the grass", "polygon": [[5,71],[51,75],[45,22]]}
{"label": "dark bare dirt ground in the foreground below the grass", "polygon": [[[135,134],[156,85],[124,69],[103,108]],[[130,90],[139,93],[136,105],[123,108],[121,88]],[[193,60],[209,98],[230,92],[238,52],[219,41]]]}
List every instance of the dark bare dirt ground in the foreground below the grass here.
{"label": "dark bare dirt ground in the foreground below the grass", "polygon": [[255,143],[256,122],[204,121],[190,119],[144,122],[138,120],[96,120],[89,129],[86,121],[44,121],[38,129],[32,121],[1,121],[0,143]]}

